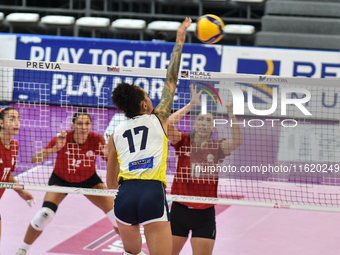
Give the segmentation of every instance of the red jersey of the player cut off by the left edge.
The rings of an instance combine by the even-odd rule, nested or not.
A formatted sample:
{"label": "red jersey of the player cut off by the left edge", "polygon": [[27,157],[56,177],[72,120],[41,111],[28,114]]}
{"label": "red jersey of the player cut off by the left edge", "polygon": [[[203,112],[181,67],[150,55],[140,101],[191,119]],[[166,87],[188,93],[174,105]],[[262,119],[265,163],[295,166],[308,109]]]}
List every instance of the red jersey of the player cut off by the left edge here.
{"label": "red jersey of the player cut off by the left edge", "polygon": [[[8,182],[10,172],[14,171],[17,162],[19,144],[16,140],[11,140],[11,148],[7,149],[0,140],[0,181]],[[5,189],[0,189],[0,198],[4,194]]]}

